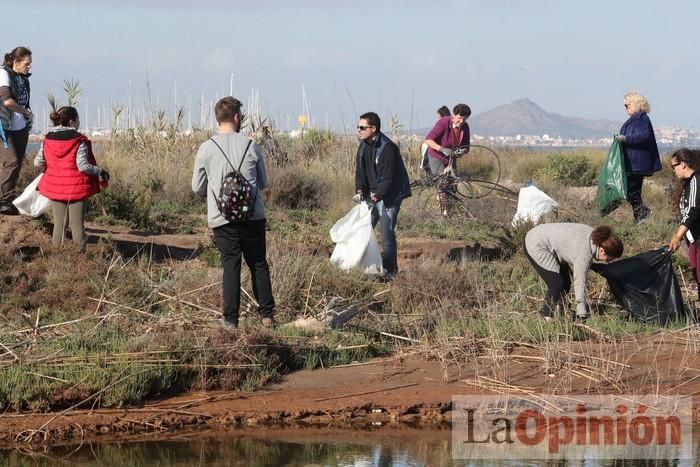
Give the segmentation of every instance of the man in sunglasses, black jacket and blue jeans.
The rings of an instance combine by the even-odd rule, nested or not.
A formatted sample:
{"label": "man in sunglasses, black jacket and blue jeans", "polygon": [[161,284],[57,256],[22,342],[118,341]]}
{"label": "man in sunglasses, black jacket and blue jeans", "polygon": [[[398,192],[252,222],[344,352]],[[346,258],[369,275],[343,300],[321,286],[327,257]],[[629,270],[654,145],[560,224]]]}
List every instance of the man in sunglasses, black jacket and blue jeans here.
{"label": "man in sunglasses, black jacket and blue jeans", "polygon": [[372,216],[372,227],[379,222],[382,231],[382,266],[389,280],[398,272],[396,222],[401,202],[411,196],[411,184],[399,148],[381,132],[379,115],[367,112],[357,125],[360,146],[355,164],[355,196],[368,201],[378,216]]}

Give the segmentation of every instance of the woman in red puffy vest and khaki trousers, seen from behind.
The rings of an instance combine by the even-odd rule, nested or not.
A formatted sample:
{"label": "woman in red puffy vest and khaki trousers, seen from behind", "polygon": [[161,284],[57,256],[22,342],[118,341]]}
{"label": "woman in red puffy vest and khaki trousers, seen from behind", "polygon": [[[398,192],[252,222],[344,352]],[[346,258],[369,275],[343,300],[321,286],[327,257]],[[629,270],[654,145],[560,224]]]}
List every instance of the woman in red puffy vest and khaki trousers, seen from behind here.
{"label": "woman in red puffy vest and khaki trousers, seen from behind", "polygon": [[100,192],[100,179],[107,182],[109,173],[97,166],[92,143],[78,132],[80,117],[75,107],[61,107],[49,118],[54,127],[34,159],[34,165],[44,170],[38,190],[51,200],[53,244],[63,243],[69,223],[73,241],[83,249],[87,199]]}

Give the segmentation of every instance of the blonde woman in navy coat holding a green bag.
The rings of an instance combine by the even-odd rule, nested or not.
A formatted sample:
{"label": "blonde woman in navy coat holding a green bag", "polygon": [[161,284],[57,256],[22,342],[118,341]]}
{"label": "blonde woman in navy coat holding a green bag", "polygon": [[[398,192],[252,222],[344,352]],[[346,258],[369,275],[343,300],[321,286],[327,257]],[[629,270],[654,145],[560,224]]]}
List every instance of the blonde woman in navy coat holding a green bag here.
{"label": "blonde woman in navy coat holding a green bag", "polygon": [[649,102],[638,92],[627,93],[625,111],[630,117],[615,138],[622,143],[627,170],[627,201],[632,205],[634,220],[638,224],[651,214],[651,209],[642,201],[644,177],[661,170],[661,159],[648,115],[651,111]]}

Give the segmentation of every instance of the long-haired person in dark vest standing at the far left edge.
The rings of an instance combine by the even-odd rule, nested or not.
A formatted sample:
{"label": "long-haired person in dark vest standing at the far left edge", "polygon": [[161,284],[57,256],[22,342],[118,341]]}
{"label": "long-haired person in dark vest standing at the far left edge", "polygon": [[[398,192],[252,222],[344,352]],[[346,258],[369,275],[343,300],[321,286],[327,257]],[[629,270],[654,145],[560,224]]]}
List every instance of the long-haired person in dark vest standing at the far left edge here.
{"label": "long-haired person in dark vest standing at the far left edge", "polygon": [[32,51],[26,47],[5,54],[0,66],[0,214],[18,214],[12,200],[32,128],[31,68]]}

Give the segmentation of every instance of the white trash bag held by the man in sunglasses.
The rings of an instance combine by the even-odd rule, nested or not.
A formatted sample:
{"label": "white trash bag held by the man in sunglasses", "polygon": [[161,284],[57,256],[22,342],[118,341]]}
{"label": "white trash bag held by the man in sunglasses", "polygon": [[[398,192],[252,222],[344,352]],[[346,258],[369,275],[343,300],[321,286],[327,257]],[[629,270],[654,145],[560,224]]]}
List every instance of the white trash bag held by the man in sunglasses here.
{"label": "white trash bag held by the man in sunglasses", "polygon": [[360,203],[335,223],[330,231],[336,244],[331,262],[343,270],[359,267],[366,274],[382,274],[382,255],[372,229],[372,212]]}

